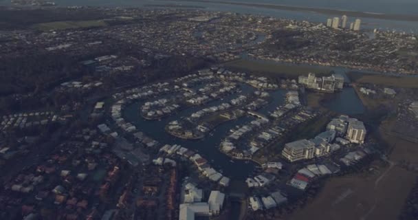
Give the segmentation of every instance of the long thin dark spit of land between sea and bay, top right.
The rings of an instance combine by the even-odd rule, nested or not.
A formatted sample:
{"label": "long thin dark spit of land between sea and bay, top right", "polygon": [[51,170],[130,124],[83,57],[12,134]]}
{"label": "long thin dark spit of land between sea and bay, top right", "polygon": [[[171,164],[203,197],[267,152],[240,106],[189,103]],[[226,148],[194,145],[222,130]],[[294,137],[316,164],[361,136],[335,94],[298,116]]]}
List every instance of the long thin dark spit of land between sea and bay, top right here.
{"label": "long thin dark spit of land between sea and bay, top right", "polygon": [[[156,0],[164,1],[164,0]],[[239,5],[247,7],[256,7],[256,8],[269,8],[275,10],[287,10],[287,11],[299,11],[299,12],[314,12],[319,14],[327,15],[347,15],[349,17],[362,17],[369,19],[383,19],[383,20],[393,20],[393,21],[418,21],[418,15],[415,14],[384,14],[377,12],[360,12],[360,11],[351,11],[351,10],[338,10],[330,8],[309,8],[309,7],[300,7],[292,5],[276,5],[276,4],[264,4],[264,3],[241,3],[236,1],[208,1],[208,0],[179,0],[186,2],[198,2],[198,3],[215,3],[223,5]]]}

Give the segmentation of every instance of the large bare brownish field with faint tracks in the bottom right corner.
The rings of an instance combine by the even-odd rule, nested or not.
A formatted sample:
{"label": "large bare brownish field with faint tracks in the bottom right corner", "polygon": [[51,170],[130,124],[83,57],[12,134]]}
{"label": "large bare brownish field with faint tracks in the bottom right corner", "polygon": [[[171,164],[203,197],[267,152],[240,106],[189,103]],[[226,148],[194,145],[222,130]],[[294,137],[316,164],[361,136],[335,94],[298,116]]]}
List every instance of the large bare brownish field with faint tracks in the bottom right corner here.
{"label": "large bare brownish field with faint tracks in the bottom right corner", "polygon": [[397,166],[388,169],[366,176],[334,177],[312,203],[286,219],[397,219],[417,174]]}

